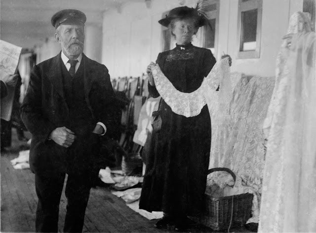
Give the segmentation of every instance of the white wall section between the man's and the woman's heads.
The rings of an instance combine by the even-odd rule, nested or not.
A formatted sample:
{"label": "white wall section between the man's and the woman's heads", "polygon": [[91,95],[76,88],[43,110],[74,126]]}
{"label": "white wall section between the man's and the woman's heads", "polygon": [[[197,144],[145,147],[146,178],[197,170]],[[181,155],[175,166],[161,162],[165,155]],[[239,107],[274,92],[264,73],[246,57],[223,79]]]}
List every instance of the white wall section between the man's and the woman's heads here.
{"label": "white wall section between the man's and the woman's heads", "polygon": [[[194,5],[194,0],[187,3]],[[189,5],[189,4],[188,4]],[[152,0],[150,9],[145,2],[130,2],[103,14],[102,63],[112,77],[140,76],[161,51],[162,13],[179,6],[178,0]]]}

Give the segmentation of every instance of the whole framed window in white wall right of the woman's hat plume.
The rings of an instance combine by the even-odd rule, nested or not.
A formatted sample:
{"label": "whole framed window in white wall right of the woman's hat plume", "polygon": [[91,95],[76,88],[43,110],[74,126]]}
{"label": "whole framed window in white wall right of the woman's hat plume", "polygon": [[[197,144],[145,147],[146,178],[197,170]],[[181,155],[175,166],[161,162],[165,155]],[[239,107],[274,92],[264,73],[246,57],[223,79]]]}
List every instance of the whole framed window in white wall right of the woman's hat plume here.
{"label": "whole framed window in white wall right of the woman's hat plume", "polygon": [[239,0],[237,59],[259,58],[262,0]]}

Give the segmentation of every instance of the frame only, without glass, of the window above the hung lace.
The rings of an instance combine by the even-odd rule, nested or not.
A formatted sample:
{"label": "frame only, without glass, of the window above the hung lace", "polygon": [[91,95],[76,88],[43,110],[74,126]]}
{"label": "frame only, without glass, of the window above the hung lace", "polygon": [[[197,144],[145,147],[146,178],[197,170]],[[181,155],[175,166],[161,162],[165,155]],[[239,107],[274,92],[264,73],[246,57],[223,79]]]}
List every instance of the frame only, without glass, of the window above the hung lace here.
{"label": "frame only, without glass, of the window above the hung lace", "polygon": [[[241,44],[241,15],[244,11],[257,9],[257,32],[256,49],[240,51]],[[238,20],[237,20],[237,59],[260,58],[261,46],[261,26],[262,26],[262,0],[238,0]]]}

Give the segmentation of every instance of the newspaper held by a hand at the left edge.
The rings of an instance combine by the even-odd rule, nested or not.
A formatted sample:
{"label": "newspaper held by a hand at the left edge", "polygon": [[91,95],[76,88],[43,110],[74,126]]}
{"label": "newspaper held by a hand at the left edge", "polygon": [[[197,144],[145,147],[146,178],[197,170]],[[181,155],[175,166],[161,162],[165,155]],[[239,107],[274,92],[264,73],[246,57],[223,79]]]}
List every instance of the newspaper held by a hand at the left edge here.
{"label": "newspaper held by a hand at the left edge", "polygon": [[[21,47],[0,40],[0,78],[17,71]],[[8,95],[1,99],[1,119],[11,119],[15,87],[7,87]]]}

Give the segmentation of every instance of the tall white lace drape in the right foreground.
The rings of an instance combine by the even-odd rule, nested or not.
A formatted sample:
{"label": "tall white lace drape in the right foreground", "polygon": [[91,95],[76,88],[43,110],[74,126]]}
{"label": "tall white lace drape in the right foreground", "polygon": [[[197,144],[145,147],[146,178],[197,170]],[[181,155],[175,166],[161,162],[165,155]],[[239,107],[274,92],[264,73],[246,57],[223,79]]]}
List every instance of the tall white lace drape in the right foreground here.
{"label": "tall white lace drape in the right foreground", "polygon": [[[265,121],[268,135],[259,232],[316,232],[315,33],[300,31],[281,48]],[[299,33],[303,32],[303,33]]]}

